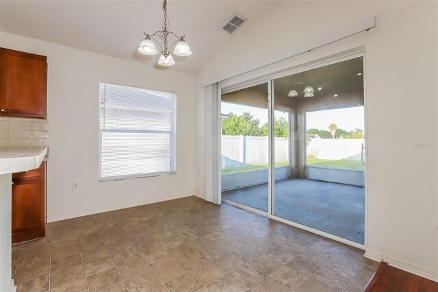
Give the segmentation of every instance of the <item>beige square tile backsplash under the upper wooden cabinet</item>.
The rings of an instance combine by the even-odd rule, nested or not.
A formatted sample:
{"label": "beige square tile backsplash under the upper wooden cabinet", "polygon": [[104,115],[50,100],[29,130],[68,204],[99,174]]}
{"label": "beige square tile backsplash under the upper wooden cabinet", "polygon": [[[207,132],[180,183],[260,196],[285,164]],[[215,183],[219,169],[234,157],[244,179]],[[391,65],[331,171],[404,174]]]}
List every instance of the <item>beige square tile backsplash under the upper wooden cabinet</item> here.
{"label": "beige square tile backsplash under the upper wooden cabinet", "polygon": [[49,146],[49,121],[0,117],[0,146]]}

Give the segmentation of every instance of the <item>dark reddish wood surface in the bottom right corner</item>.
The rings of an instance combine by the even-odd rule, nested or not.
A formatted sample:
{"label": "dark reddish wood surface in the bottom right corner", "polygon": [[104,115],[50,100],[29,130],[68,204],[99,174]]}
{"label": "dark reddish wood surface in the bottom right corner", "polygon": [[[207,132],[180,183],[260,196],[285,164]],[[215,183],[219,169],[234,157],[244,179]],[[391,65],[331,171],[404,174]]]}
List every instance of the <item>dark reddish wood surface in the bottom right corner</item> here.
{"label": "dark reddish wood surface in the bottom right corner", "polygon": [[438,282],[381,263],[364,292],[438,292]]}

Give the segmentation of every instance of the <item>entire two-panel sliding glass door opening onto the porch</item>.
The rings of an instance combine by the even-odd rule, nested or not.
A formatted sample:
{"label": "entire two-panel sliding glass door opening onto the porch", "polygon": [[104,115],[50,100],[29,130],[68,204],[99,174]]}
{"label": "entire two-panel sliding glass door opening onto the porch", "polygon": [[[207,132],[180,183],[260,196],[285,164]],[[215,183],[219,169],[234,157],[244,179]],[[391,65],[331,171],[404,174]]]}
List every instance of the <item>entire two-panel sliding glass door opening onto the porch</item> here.
{"label": "entire two-panel sliding glass door opening onto the porch", "polygon": [[222,199],[365,243],[363,56],[222,95]]}

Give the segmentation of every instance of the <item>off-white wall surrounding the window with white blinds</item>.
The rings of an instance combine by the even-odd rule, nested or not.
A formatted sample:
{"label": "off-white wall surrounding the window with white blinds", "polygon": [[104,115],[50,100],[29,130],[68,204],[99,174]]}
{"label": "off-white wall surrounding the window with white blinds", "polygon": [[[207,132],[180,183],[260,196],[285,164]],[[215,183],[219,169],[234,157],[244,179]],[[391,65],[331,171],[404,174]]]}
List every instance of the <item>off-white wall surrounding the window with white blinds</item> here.
{"label": "off-white wall surrounding the window with white blinds", "polygon": [[[49,63],[48,221],[194,194],[193,75],[3,32],[0,37],[1,47],[38,53]],[[99,183],[99,82],[177,93],[177,175]]]}

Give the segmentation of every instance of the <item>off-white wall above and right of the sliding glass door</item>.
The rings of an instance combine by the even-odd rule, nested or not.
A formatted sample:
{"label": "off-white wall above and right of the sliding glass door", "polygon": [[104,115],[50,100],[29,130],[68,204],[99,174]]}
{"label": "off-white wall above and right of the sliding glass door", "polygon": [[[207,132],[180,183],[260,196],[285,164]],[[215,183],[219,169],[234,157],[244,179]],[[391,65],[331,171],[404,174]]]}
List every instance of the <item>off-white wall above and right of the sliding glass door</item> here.
{"label": "off-white wall above and right of the sliding glass door", "polygon": [[[206,64],[198,76],[198,80],[205,81],[236,71],[376,16],[377,26],[370,32],[350,36],[282,64],[298,66],[365,46],[366,254],[435,279],[438,279],[437,4],[285,1],[248,34],[236,34],[233,45]],[[261,49],[262,45],[267,47]],[[198,114],[201,109],[198,106]],[[199,149],[203,145],[202,133],[201,125]],[[203,189],[202,184],[196,182],[197,191]]]}

